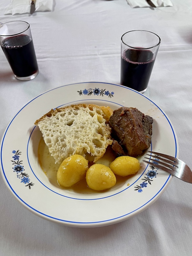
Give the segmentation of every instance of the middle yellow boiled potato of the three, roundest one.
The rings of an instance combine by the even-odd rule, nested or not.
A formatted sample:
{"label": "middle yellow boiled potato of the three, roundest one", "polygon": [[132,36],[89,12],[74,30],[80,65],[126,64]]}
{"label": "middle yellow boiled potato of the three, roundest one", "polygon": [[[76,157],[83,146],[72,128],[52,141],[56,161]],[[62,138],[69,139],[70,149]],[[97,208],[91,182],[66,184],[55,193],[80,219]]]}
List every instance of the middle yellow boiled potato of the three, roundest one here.
{"label": "middle yellow boiled potato of the three, roundest one", "polygon": [[86,173],[86,181],[93,190],[105,190],[116,184],[116,177],[108,166],[93,164]]}

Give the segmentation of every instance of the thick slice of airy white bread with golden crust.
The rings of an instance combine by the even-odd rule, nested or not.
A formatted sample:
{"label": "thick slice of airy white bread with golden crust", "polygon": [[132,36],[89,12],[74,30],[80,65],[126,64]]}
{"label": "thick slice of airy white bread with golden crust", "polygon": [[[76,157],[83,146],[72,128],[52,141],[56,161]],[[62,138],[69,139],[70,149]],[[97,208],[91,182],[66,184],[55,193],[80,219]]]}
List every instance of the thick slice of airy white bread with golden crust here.
{"label": "thick slice of airy white bread with golden crust", "polygon": [[[108,125],[113,111],[92,104],[56,108],[36,120],[55,163],[79,154],[96,162],[112,144]],[[90,160],[90,159],[88,159]]]}

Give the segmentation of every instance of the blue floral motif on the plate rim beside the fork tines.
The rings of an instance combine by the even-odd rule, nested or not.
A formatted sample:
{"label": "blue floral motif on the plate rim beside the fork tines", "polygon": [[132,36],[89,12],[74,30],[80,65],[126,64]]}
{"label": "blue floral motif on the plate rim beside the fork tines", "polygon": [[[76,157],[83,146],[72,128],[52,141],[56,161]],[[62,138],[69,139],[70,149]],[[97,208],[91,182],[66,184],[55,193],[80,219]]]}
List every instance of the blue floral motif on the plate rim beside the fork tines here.
{"label": "blue floral motif on the plate rim beside the fork tines", "polygon": [[144,180],[140,185],[136,185],[136,187],[134,187],[136,191],[138,191],[139,193],[141,193],[143,191],[142,188],[147,188],[147,185],[151,185],[151,181],[153,181],[152,179],[153,178],[156,178],[157,177],[157,172],[156,170],[158,170],[159,168],[153,166],[153,163],[156,163],[158,164],[159,159],[156,159],[151,163],[151,165],[149,165],[150,169],[151,170],[148,170],[147,173],[145,174],[146,176],[144,176],[143,179],[141,180]]}

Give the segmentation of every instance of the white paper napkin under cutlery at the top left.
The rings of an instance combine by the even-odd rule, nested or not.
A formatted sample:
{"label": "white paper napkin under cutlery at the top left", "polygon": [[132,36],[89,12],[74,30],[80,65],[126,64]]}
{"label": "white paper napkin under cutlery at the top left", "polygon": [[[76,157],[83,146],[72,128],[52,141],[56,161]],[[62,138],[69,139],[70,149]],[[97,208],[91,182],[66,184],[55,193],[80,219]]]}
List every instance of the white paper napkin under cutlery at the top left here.
{"label": "white paper napkin under cutlery at the top left", "polygon": [[[4,14],[29,13],[31,0],[11,0]],[[35,12],[45,12],[53,10],[53,0],[36,0]]]}

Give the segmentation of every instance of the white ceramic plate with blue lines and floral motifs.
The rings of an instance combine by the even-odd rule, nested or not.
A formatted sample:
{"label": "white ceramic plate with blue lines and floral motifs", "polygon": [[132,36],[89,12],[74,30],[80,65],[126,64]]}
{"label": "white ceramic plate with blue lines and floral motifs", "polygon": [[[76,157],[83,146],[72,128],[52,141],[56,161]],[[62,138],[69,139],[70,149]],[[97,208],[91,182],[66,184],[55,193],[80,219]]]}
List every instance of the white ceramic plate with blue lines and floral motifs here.
{"label": "white ceramic plate with blue lines and floral motifs", "polygon": [[42,171],[37,148],[41,132],[34,125],[52,108],[92,103],[117,109],[138,108],[152,116],[153,135],[149,150],[178,156],[174,128],[152,100],[130,88],[109,83],[68,84],[29,101],[13,117],[1,141],[1,172],[13,196],[31,212],[57,223],[75,227],[113,224],[145,210],[164,192],[172,176],[142,162],[140,171],[127,182],[108,191],[81,194],[50,183]]}

